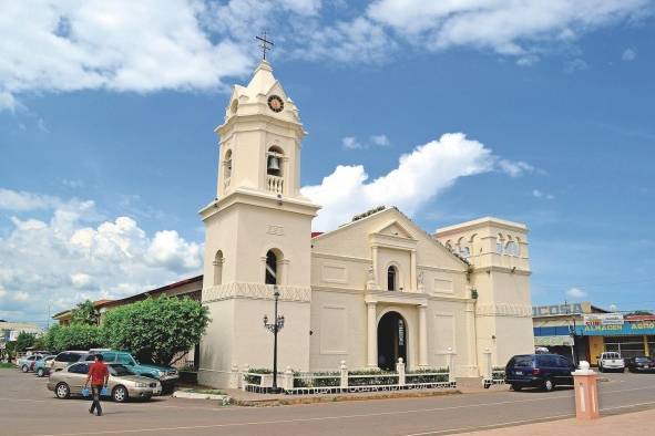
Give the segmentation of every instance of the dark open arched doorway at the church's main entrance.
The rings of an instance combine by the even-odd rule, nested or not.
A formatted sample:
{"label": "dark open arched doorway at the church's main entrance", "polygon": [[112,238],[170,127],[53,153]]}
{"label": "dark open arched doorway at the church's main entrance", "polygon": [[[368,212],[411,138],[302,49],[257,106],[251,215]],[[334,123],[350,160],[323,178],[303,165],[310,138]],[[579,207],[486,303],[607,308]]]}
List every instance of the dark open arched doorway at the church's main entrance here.
{"label": "dark open arched doorway at the church's main entrance", "polygon": [[378,367],[396,371],[399,357],[407,362],[407,321],[398,312],[387,312],[378,323]]}

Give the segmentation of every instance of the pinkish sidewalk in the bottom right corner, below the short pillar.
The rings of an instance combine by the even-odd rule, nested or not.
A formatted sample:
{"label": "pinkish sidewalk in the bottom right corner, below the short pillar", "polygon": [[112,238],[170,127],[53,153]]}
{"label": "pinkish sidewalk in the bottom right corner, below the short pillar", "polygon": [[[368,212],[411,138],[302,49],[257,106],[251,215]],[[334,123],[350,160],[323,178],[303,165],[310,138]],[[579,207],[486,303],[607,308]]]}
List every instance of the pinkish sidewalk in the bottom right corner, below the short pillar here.
{"label": "pinkish sidewalk in the bottom right corner, below the short pillar", "polygon": [[[489,430],[460,433],[470,436],[643,436],[649,434],[655,423],[655,409],[634,412],[622,415],[605,415],[601,419],[577,421],[560,419],[539,424],[515,425]],[[520,423],[515,423],[520,424]]]}

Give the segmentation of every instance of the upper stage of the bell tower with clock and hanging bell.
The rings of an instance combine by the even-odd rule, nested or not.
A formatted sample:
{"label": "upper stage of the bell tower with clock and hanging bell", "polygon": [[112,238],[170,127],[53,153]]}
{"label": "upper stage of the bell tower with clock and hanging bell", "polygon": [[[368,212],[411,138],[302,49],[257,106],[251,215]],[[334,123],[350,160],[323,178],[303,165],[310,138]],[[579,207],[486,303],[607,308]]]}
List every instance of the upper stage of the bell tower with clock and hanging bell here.
{"label": "upper stage of the bell tower with clock and hanging bell", "polygon": [[247,86],[236,85],[219,136],[217,197],[235,190],[299,198],[300,148],[305,136],[298,108],[262,61]]}

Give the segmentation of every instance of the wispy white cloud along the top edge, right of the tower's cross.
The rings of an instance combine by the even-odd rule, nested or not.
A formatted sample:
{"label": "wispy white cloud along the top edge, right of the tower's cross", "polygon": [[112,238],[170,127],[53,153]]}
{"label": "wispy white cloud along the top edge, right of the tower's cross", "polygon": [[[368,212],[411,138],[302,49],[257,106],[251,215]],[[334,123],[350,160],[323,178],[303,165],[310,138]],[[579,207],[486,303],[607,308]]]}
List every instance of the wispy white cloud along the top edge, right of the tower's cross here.
{"label": "wispy white cloud along the top edge, right of the tower's cross", "polygon": [[367,14],[432,50],[465,45],[524,58],[539,52],[544,42],[574,40],[638,15],[648,4],[648,0],[378,0]]}

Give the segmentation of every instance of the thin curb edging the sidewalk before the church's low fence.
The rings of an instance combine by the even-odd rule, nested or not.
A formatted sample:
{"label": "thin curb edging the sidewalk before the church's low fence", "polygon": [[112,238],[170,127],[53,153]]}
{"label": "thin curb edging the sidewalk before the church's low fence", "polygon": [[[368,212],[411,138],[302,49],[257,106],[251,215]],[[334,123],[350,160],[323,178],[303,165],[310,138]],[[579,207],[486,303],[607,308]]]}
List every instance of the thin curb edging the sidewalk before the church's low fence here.
{"label": "thin curb edging the sidewalk before the church's low fence", "polygon": [[398,392],[382,395],[330,395],[330,396],[294,396],[285,398],[263,398],[263,399],[238,399],[231,398],[232,405],[245,407],[268,407],[268,406],[290,406],[296,404],[316,404],[316,403],[336,403],[336,402],[357,402],[369,399],[389,399],[389,398],[420,398],[426,396],[458,395],[460,391],[433,391],[433,392]]}

